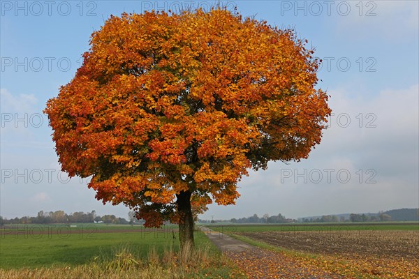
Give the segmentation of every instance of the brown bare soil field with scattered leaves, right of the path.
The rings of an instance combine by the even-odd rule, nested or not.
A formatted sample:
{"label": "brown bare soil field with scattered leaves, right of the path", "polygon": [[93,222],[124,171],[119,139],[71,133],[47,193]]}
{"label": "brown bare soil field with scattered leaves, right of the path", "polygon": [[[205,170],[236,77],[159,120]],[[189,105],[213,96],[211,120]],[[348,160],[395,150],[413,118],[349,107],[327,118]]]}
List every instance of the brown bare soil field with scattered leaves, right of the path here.
{"label": "brown bare soil field with scattered leaves, right of the path", "polygon": [[[237,232],[345,278],[419,278],[418,231]],[[313,255],[313,256],[304,256]]]}

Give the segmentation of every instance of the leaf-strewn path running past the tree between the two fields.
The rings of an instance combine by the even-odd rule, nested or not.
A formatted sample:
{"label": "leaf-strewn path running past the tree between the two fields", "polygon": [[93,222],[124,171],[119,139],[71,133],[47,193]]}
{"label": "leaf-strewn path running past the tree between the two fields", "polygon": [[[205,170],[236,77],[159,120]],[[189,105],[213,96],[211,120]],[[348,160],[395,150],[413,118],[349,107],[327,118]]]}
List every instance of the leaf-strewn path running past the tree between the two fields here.
{"label": "leaf-strewn path running past the tree between the two fields", "polygon": [[251,279],[344,278],[337,274],[325,272],[313,264],[295,259],[282,252],[251,246],[207,227],[201,227],[201,231]]}

